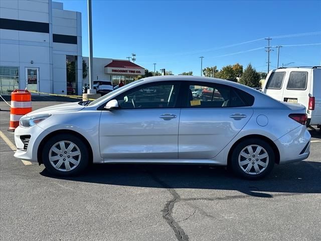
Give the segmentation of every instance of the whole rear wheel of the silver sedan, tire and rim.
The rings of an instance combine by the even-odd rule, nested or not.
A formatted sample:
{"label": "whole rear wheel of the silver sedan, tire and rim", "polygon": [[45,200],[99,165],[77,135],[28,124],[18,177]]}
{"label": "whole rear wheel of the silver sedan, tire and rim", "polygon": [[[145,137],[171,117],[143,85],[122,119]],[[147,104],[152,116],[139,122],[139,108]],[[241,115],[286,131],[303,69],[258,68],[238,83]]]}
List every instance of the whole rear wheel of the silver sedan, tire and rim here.
{"label": "whole rear wheel of the silver sedan, tire and rim", "polygon": [[242,178],[259,179],[273,169],[275,155],[272,147],[260,139],[247,139],[240,142],[231,157],[233,172]]}

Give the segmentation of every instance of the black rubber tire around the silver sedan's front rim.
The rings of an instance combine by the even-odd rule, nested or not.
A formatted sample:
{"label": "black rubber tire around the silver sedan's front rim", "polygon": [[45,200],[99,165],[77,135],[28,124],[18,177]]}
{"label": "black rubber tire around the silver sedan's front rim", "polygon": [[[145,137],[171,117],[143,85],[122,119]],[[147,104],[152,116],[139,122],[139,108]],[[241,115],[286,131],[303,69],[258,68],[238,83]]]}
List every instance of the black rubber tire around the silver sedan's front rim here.
{"label": "black rubber tire around the silver sedan's front rim", "polygon": [[[49,160],[50,149],[60,141],[72,142],[78,147],[80,151],[80,156],[78,156],[80,159],[79,164],[70,171],[60,171],[56,169]],[[56,136],[51,137],[44,145],[44,148],[42,151],[43,164],[45,165],[46,169],[55,176],[67,177],[67,176],[79,175],[87,168],[88,160],[89,160],[89,152],[88,152],[87,146],[79,137],[71,134],[57,134]]]}

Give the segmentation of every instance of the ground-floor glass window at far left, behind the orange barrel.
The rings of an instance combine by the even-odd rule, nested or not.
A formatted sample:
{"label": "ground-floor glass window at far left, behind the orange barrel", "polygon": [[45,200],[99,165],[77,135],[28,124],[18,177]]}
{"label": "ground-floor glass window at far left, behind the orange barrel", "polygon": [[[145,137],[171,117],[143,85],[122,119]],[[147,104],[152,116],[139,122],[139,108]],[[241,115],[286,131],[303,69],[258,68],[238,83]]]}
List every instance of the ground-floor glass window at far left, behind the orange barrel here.
{"label": "ground-floor glass window at far left, behind the orange barrel", "polygon": [[0,66],[0,93],[10,94],[19,89],[19,67]]}

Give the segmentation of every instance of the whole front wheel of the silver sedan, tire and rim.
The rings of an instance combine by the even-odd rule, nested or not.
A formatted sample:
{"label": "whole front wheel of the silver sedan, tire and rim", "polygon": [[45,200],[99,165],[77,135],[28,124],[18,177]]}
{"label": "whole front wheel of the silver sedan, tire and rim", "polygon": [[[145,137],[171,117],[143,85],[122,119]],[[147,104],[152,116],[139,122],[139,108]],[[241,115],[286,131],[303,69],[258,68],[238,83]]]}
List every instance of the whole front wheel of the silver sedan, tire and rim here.
{"label": "whole front wheel of the silver sedan, tire and rim", "polygon": [[88,157],[84,142],[70,134],[58,134],[50,138],[42,153],[46,169],[58,176],[80,174],[88,166]]}

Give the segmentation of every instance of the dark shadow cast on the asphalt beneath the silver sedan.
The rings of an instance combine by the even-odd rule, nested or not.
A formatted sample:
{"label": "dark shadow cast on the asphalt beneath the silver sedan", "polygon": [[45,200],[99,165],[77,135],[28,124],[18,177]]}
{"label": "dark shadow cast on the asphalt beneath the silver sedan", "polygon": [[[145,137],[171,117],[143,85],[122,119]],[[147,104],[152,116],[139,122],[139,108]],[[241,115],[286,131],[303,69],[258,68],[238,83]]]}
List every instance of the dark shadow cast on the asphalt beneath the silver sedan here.
{"label": "dark shadow cast on the asphalt beneath the silver sedan", "polygon": [[272,198],[271,192],[285,195],[321,193],[321,162],[309,161],[275,165],[272,173],[256,181],[239,179],[223,167],[165,164],[96,164],[81,176],[54,177],[46,169],[41,175],[120,186],[237,190],[265,198]]}

